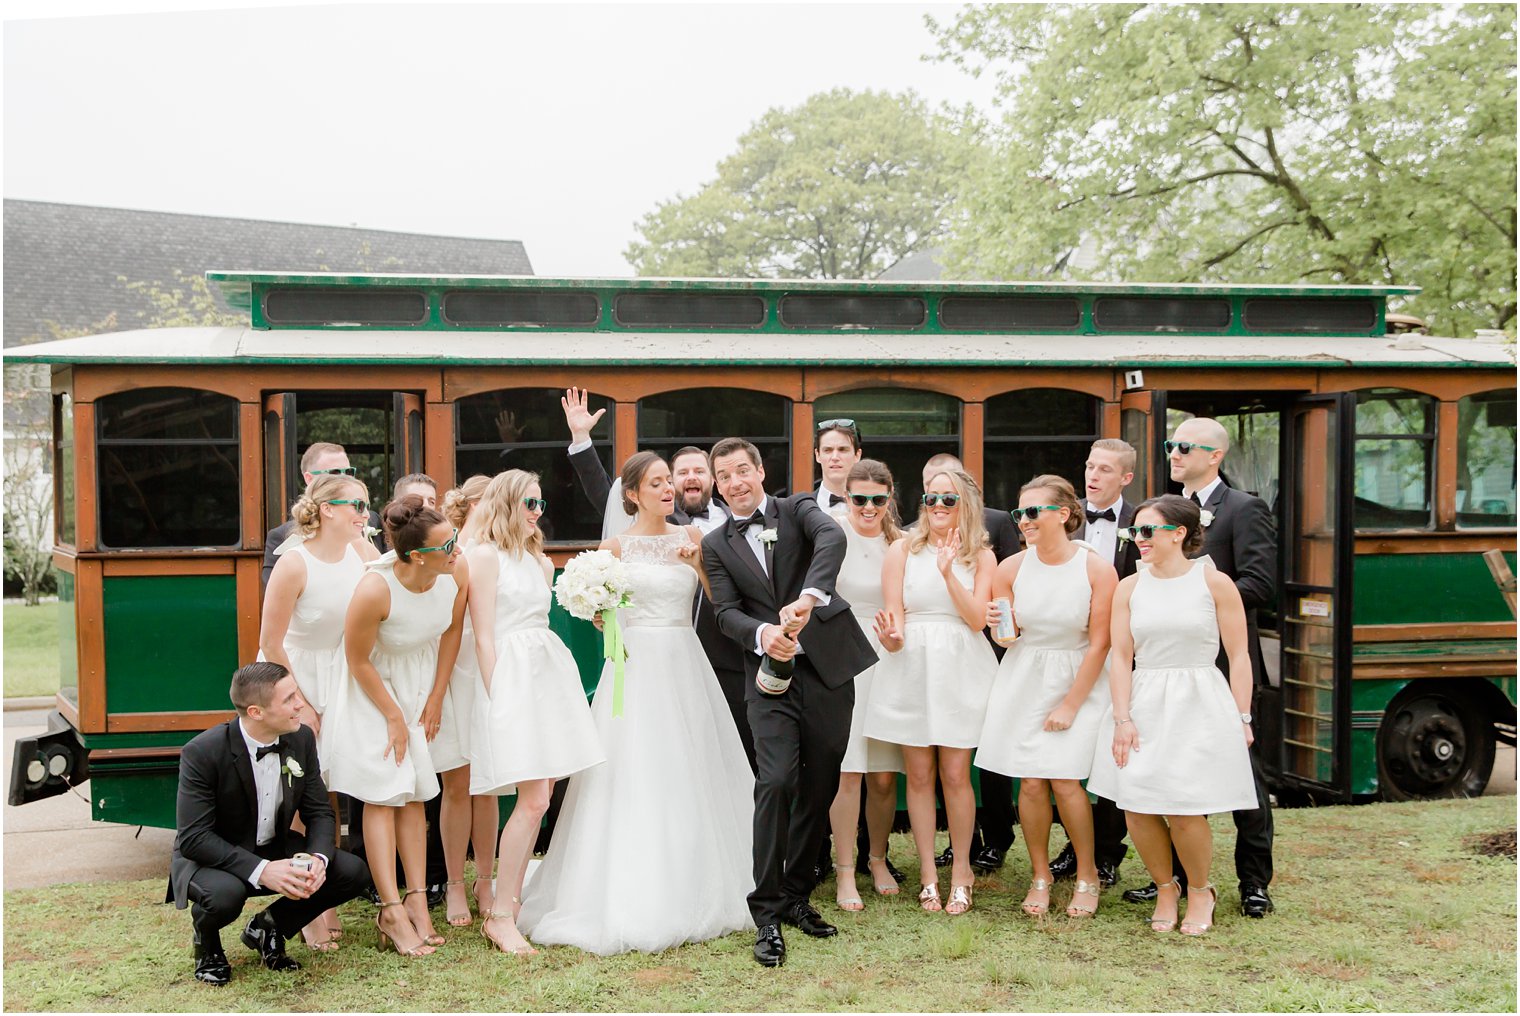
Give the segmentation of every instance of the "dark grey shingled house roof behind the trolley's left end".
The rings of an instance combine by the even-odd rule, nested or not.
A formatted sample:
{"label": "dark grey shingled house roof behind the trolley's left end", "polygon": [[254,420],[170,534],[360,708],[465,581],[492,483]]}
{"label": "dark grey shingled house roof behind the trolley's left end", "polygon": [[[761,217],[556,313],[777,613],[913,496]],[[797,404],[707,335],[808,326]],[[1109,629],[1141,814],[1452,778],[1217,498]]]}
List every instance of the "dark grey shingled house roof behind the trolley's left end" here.
{"label": "dark grey shingled house roof behind the trolley's left end", "polygon": [[[208,268],[530,275],[521,240],[226,219],[47,201],[5,201],[5,345],[49,338],[47,322],[147,324],[154,303],[126,283],[182,286]],[[125,281],[123,281],[125,278]],[[219,309],[228,310],[213,287]]]}

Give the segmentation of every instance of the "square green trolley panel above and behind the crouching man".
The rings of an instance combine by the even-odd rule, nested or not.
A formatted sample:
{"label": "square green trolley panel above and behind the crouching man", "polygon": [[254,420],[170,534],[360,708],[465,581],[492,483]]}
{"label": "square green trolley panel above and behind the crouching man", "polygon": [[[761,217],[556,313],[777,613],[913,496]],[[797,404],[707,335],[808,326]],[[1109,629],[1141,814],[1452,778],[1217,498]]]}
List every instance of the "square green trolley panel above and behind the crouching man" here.
{"label": "square green trolley panel above and behind the crouching man", "polygon": [[231,709],[237,586],[231,575],[105,579],[106,710]]}

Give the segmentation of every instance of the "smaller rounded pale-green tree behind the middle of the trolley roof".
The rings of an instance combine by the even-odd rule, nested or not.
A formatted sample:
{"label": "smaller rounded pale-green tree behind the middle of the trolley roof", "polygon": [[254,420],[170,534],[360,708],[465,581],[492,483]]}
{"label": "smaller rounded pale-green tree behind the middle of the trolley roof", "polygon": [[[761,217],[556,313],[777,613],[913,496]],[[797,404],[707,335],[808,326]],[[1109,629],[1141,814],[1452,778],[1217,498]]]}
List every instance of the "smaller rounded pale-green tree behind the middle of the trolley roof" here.
{"label": "smaller rounded pale-green tree behind the middle of the trolley roof", "polygon": [[976,152],[970,116],[914,93],[819,93],[771,110],[690,198],[646,214],[640,275],[872,278],[941,243]]}

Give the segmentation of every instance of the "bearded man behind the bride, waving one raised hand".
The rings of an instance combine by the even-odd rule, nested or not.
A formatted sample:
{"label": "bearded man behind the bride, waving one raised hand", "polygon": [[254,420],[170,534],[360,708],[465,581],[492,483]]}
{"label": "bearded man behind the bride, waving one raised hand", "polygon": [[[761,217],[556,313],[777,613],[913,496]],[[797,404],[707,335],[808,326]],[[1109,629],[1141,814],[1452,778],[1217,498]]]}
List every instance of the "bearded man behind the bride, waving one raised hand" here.
{"label": "bearded man behind the bride, waving one raised hand", "polygon": [[[606,409],[591,412],[587,406],[587,392],[579,388],[567,388],[559,405],[565,411],[565,424],[570,427],[570,464],[575,465],[581,490],[600,511],[606,505],[608,491],[613,490],[613,478],[606,475],[600,456],[591,446],[591,427]],[[707,452],[687,446],[672,455],[670,482],[675,485],[675,511],[670,513],[669,522],[678,526],[695,525],[702,531],[702,535],[720,529],[728,522],[728,511],[713,500],[713,468]],[[754,770],[755,741],[745,709],[745,686],[749,681],[745,677],[743,651],[717,630],[713,604],[702,593],[701,586],[696,589],[693,604],[693,625],[702,651],[707,654],[707,662],[713,665],[713,674],[717,675],[717,686],[724,689],[724,700],[728,703],[734,725],[739,727],[739,739],[745,745],[749,768]],[[564,786],[564,782],[559,786]]]}

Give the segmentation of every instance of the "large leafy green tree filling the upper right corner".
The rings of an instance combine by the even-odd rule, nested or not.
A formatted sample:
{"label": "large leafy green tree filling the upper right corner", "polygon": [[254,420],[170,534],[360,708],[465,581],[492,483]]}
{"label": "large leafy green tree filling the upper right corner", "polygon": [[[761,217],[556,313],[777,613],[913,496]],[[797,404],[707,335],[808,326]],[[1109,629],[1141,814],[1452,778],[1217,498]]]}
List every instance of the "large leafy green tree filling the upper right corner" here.
{"label": "large leafy green tree filling the upper right corner", "polygon": [[1418,284],[1444,333],[1515,318],[1515,9],[967,6],[999,82],[953,271]]}

